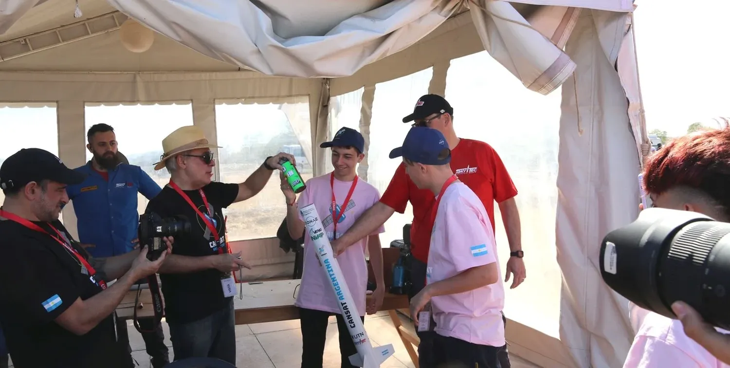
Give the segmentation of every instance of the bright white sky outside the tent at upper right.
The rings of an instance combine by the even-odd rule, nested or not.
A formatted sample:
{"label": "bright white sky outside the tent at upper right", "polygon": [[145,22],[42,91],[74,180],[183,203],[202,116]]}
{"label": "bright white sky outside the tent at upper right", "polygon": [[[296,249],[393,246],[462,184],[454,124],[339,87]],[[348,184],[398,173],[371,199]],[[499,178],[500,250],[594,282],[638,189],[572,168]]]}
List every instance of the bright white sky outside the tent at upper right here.
{"label": "bright white sky outside the tent at upper right", "polygon": [[669,136],[696,121],[730,117],[730,3],[638,0],[639,78],[647,129]]}

